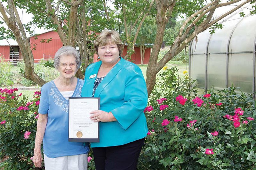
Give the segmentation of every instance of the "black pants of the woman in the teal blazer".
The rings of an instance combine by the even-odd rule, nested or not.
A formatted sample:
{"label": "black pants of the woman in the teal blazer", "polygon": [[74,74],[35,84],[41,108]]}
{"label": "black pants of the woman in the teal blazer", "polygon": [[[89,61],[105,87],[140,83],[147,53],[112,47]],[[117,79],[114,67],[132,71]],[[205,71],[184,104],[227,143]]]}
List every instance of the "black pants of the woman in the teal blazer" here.
{"label": "black pants of the woman in the teal blazer", "polygon": [[136,170],[145,138],[120,146],[92,148],[96,170]]}

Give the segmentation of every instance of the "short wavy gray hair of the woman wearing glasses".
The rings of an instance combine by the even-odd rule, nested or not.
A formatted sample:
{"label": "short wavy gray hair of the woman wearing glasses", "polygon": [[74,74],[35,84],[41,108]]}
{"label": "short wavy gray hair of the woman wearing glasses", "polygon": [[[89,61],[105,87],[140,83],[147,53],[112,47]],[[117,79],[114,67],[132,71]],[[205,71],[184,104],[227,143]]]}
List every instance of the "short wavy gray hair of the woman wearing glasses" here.
{"label": "short wavy gray hair of the woman wearing glasses", "polygon": [[53,66],[58,69],[59,65],[60,65],[60,57],[62,55],[73,55],[76,58],[76,65],[77,65],[77,69],[78,70],[81,66],[81,60],[80,57],[78,55],[78,52],[76,51],[76,49],[74,47],[71,46],[63,46],[60,49],[58,49],[58,51],[55,53],[54,56],[54,64]]}

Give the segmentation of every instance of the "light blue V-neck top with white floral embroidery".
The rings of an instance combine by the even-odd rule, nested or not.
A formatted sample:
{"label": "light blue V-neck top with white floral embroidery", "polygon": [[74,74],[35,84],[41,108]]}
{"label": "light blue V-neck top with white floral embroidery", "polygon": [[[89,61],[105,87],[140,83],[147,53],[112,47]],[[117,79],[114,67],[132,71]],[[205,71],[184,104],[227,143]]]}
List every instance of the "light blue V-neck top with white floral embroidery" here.
{"label": "light blue V-neck top with white floral embroidery", "polygon": [[[72,97],[81,97],[84,80],[77,79]],[[66,100],[53,81],[41,88],[41,99],[38,113],[48,114],[43,148],[49,158],[86,154],[88,145],[82,142],[68,142],[68,100]]]}

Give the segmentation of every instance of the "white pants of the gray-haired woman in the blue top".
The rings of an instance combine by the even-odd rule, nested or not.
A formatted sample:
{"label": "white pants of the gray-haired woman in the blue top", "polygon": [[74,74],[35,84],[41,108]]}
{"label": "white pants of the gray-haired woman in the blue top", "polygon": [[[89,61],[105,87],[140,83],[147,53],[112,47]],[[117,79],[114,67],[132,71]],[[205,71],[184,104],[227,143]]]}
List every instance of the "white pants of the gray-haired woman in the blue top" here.
{"label": "white pants of the gray-haired woman in the blue top", "polygon": [[48,158],[44,154],[45,170],[87,170],[87,154]]}

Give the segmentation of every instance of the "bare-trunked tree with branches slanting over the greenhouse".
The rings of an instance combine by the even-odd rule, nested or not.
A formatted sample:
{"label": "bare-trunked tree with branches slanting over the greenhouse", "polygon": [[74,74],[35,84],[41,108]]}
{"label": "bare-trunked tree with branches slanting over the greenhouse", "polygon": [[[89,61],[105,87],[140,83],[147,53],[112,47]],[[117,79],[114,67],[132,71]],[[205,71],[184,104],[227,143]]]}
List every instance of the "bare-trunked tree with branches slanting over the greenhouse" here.
{"label": "bare-trunked tree with branches slanting over the greenhouse", "polygon": [[[176,0],[155,0],[156,14],[156,38],[152,52],[149,58],[147,67],[147,89],[148,96],[152,92],[156,84],[156,74],[168,63],[175,55],[181,52],[190,41],[196,37],[197,34],[203,32],[209,27],[220,27],[218,21],[222,18],[233,13],[237,9],[243,7],[244,4],[255,4],[255,0],[233,0],[225,3],[221,3],[220,0],[213,0],[208,4],[204,4],[205,1],[176,1]],[[213,13],[217,8],[222,6],[234,5],[234,8],[227,11],[217,18],[213,18]],[[256,13],[256,6],[252,5],[253,9],[251,14]],[[193,11],[194,10],[194,11]],[[179,33],[176,36],[170,50],[164,55],[164,57],[157,62],[158,54],[164,38],[164,30],[168,19],[173,13],[177,11],[183,11],[187,18],[180,27]],[[242,15],[242,13],[241,13]],[[194,31],[192,31],[194,29]]]}

